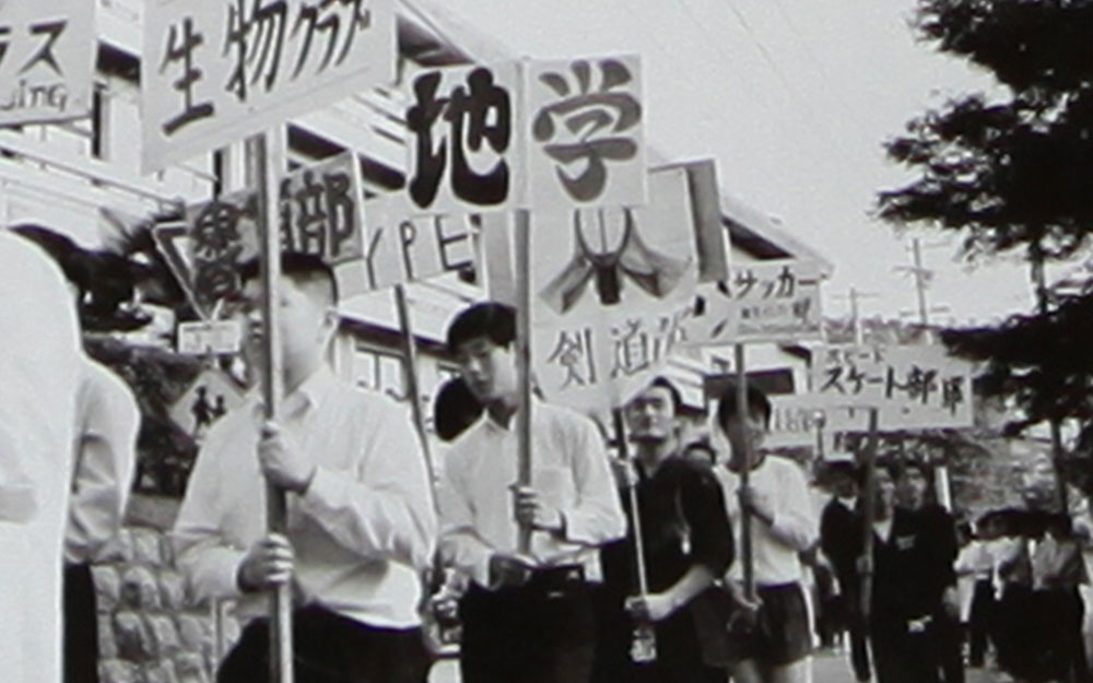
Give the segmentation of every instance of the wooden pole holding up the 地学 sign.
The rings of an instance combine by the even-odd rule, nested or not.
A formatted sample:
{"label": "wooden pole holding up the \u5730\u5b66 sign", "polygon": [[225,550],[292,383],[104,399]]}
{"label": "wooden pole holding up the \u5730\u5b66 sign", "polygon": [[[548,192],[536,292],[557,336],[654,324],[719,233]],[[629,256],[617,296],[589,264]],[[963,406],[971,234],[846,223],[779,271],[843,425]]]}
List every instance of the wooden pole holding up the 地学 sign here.
{"label": "wooden pole holding up the \u5730\u5b66 sign", "polygon": [[[516,210],[516,376],[519,402],[516,428],[519,445],[517,485],[531,485],[531,214]],[[517,549],[531,550],[531,527],[520,526]]]}

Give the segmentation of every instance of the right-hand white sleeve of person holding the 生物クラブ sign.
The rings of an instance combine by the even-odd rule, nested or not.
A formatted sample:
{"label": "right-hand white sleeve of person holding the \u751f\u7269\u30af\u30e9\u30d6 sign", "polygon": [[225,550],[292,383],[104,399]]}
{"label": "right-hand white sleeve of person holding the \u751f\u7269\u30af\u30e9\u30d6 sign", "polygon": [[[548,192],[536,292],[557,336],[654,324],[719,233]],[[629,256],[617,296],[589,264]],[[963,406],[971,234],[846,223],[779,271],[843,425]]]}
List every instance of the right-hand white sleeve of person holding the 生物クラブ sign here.
{"label": "right-hand white sleeve of person holding the \u751f\u7269\u30af\u30e9\u30d6 sign", "polygon": [[422,569],[432,561],[436,513],[421,447],[401,410],[374,414],[355,471],[318,467],[303,509],[344,547]]}

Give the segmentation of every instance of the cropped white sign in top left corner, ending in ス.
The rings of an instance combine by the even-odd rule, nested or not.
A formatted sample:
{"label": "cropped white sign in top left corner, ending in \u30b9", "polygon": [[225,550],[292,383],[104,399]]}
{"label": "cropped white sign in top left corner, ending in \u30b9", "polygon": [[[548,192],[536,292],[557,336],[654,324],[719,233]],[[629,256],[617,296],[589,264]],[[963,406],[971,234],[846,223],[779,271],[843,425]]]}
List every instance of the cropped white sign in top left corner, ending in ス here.
{"label": "cropped white sign in top left corner, ending in \u30b9", "polygon": [[95,2],[0,2],[0,126],[87,116]]}

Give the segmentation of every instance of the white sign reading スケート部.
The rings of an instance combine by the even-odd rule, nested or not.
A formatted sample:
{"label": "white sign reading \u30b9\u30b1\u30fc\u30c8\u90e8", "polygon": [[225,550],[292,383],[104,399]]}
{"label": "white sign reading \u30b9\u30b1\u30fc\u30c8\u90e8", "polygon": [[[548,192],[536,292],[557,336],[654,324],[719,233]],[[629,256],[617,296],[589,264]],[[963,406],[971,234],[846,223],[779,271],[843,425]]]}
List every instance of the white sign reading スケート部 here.
{"label": "white sign reading \u30b9\u30b1\u30fc\u30c8\u90e8", "polygon": [[821,403],[880,409],[882,429],[972,425],[972,364],[942,345],[830,346],[813,361]]}

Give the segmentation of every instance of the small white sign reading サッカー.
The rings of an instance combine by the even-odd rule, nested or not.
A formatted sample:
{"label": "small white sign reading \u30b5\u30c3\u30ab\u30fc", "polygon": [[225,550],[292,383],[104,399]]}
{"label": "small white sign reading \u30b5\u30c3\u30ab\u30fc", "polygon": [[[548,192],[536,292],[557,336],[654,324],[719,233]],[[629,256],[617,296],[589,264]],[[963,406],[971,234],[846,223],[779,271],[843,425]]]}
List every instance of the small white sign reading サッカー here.
{"label": "small white sign reading \u30b5\u30c3\u30ab\u30fc", "polygon": [[717,345],[820,339],[821,323],[819,264],[777,259],[702,285],[686,328],[690,343]]}

